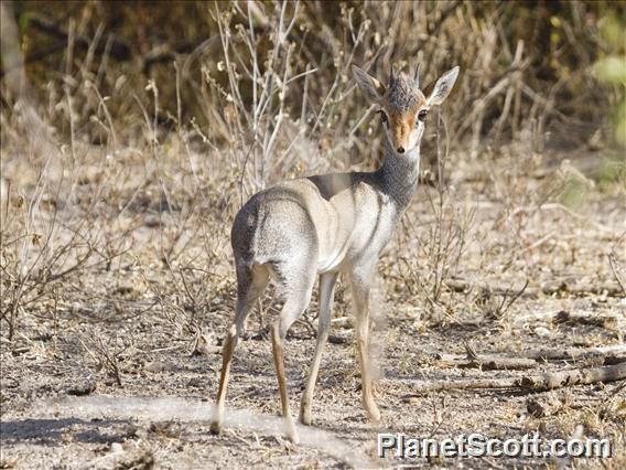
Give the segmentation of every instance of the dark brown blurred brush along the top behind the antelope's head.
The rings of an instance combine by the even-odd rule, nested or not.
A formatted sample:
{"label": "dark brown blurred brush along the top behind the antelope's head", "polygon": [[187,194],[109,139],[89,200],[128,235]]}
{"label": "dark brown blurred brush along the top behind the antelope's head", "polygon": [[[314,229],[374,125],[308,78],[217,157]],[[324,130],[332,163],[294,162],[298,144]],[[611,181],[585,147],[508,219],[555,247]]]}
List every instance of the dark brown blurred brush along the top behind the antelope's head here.
{"label": "dark brown blurred brush along the top behind the antelope's head", "polygon": [[[142,125],[141,100],[165,130],[193,120],[216,146],[231,140],[228,110],[249,107],[255,93],[252,55],[259,77],[268,70],[284,72],[277,66],[281,61],[289,62],[290,76],[315,71],[276,99],[284,99],[283,113],[295,126],[303,124],[299,118],[314,125],[326,100],[331,127],[310,136],[323,152],[358,124],[356,109],[363,109],[348,62],[384,78],[390,63],[421,62],[427,83],[461,65],[449,131],[474,147],[486,137],[518,138],[525,129],[537,148],[626,142],[624,2],[17,1],[7,7],[19,26],[25,76],[37,103],[50,105],[69,93],[75,129],[94,142],[106,140],[107,132],[93,119],[99,104],[80,89],[87,81],[107,98],[117,133]],[[277,39],[281,13],[293,24]],[[220,21],[222,32],[228,30],[226,46]],[[281,49],[272,57],[277,42]],[[225,71],[227,53],[235,84]],[[3,54],[2,76],[15,66]],[[156,108],[148,105],[154,93],[149,83],[158,89]],[[2,87],[3,113],[18,98],[12,92]],[[47,117],[58,131],[69,132],[67,110],[48,106]],[[356,130],[363,131],[367,120]]]}

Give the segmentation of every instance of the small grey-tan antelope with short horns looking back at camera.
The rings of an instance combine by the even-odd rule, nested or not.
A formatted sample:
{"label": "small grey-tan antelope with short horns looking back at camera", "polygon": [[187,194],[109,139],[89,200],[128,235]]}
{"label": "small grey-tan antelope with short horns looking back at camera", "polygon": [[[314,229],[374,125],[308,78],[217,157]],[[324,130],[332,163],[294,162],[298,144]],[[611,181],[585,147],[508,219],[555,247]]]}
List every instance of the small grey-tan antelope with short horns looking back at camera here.
{"label": "small grey-tan antelope with short horns looking back at camera", "polygon": [[285,181],[255,194],[239,210],[231,231],[237,269],[237,311],[224,342],[222,375],[211,425],[218,434],[230,360],[246,317],[270,277],[284,305],[271,330],[272,351],[285,432],[298,434],[289,409],[284,376],[284,339],[311,300],[320,276],[320,316],[315,355],[300,407],[300,421],[311,424],[313,389],[322,350],[328,339],[335,281],[350,281],[361,371],[363,405],[370,420],[380,419],[369,367],[369,290],[380,253],[407,209],[418,183],[420,141],[429,109],[447,97],[458,67],[443,74],[427,98],[419,68],[411,78],[391,71],[389,86],[357,66],[353,74],[361,92],[379,106],[386,136],[385,162],[374,172],[316,175]]}

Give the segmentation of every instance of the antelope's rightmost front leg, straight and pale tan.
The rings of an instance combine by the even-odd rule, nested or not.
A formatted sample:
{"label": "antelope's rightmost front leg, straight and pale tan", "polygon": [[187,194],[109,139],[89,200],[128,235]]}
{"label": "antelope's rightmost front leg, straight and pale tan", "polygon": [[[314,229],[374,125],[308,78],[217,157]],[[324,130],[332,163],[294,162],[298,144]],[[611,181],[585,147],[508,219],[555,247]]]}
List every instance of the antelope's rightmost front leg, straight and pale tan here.
{"label": "antelope's rightmost front leg, straight and pale tan", "polygon": [[365,274],[354,273],[350,279],[353,301],[356,313],[356,338],[360,362],[361,402],[371,421],[380,420],[380,412],[374,400],[371,381],[371,361],[369,357],[369,290],[371,284],[371,269]]}

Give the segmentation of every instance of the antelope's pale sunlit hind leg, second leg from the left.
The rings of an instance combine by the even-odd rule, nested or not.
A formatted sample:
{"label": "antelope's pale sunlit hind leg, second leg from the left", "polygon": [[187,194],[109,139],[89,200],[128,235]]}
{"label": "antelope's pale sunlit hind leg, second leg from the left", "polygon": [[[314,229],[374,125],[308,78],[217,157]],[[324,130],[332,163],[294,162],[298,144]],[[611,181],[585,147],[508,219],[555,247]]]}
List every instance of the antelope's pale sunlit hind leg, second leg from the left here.
{"label": "antelope's pale sunlit hind leg, second leg from the left", "polygon": [[309,306],[311,291],[315,282],[315,270],[313,268],[304,273],[302,270],[296,273],[296,275],[292,275],[288,279],[283,277],[284,306],[272,328],[272,351],[282,405],[282,416],[285,425],[285,434],[293,444],[298,444],[300,438],[289,408],[289,395],[284,375],[284,339],[289,328],[302,316],[306,306]]}

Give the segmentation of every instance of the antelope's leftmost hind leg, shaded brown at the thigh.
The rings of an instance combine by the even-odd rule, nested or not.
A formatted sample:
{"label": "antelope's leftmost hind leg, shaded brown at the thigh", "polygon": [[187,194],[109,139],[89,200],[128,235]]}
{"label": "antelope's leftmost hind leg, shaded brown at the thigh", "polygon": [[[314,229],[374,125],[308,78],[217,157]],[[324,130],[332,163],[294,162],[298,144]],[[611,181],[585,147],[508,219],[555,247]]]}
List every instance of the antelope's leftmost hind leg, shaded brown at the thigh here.
{"label": "antelope's leftmost hind leg, shaded brown at the thigh", "polygon": [[226,340],[224,341],[224,350],[222,352],[222,374],[219,376],[219,388],[217,389],[217,400],[215,403],[213,420],[211,423],[211,431],[219,434],[222,429],[222,419],[224,417],[224,400],[226,398],[226,386],[230,373],[230,361],[237,340],[244,331],[244,324],[248,313],[255,306],[257,299],[263,293],[269,280],[269,271],[263,266],[250,268],[248,266],[239,266],[237,268],[237,313],[233,322]]}

